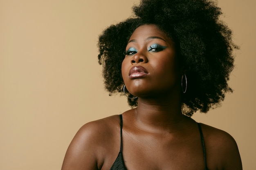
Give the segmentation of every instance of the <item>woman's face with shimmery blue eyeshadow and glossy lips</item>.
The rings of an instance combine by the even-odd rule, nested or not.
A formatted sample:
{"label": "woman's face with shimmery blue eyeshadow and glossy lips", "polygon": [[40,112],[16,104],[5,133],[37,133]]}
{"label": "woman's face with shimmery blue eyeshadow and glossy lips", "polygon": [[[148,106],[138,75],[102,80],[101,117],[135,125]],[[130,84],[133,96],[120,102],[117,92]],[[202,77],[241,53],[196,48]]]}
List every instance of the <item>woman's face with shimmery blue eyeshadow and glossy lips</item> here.
{"label": "woman's face with shimmery blue eyeshadow and glossy lips", "polygon": [[139,26],[128,41],[122,63],[128,91],[138,97],[180,92],[180,75],[173,41],[153,24]]}

